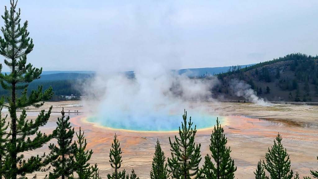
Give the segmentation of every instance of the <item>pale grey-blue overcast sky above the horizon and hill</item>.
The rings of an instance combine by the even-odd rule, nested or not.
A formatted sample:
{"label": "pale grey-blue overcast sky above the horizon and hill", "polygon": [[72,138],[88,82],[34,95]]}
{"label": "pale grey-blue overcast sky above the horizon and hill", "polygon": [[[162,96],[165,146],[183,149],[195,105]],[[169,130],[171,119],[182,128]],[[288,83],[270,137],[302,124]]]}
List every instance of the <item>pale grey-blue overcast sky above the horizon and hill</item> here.
{"label": "pale grey-blue overcast sky above the horizon and hill", "polygon": [[[3,15],[9,0],[0,5]],[[318,54],[316,0],[19,0],[18,7],[35,44],[28,61],[43,70],[203,68]]]}

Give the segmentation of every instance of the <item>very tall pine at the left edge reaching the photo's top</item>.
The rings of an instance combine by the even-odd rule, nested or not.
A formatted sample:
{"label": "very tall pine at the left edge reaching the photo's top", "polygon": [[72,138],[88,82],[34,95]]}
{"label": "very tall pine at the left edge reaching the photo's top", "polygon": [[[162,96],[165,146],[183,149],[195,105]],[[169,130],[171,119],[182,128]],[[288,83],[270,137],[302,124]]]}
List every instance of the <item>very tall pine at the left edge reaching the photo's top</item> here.
{"label": "very tall pine at the left edge reaching the photo's top", "polygon": [[[35,120],[26,120],[24,108],[28,106],[40,107],[44,100],[49,100],[52,95],[52,88],[42,92],[42,86],[37,90],[32,90],[31,95],[27,96],[28,83],[39,79],[42,68],[33,68],[31,63],[26,64],[27,54],[33,50],[33,40],[28,37],[28,21],[20,24],[20,9],[16,11],[17,2],[10,0],[10,9],[5,7],[4,27],[1,28],[3,37],[0,37],[0,54],[5,57],[4,63],[9,67],[10,74],[1,73],[0,65],[0,83],[3,89],[10,90],[11,95],[7,97],[8,104],[1,100],[0,106],[8,108],[10,113],[10,137],[5,142],[5,162],[1,166],[1,171],[6,171],[5,178],[16,179],[26,174],[36,171],[45,171],[45,168],[51,159],[45,154],[31,156],[25,159],[24,152],[36,150],[46,144],[53,138],[53,135],[47,135],[38,131],[39,127],[46,125],[52,106],[47,113],[44,110],[40,112]],[[20,97],[17,97],[18,90],[23,90]],[[3,97],[4,98],[4,97]],[[19,118],[17,110],[22,110]],[[30,138],[32,137],[32,138]]]}

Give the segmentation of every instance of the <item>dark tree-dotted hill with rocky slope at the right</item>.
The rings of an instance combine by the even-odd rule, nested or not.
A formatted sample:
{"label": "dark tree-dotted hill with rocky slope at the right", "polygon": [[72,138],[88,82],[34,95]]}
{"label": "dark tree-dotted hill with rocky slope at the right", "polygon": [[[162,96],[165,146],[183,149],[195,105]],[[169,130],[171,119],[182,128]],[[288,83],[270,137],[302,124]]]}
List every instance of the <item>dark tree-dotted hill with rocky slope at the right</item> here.
{"label": "dark tree-dotted hill with rocky slope at the right", "polygon": [[269,101],[318,102],[318,56],[295,53],[250,67],[233,66],[217,75],[217,97],[244,100],[231,89],[234,79],[251,85],[259,97]]}

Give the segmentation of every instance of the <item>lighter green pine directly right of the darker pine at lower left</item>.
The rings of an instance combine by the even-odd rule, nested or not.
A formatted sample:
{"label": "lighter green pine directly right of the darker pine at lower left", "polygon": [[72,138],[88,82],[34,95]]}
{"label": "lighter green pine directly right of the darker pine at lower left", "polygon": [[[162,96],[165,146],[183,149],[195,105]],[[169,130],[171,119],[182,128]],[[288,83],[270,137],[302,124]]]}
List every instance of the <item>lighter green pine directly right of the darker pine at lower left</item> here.
{"label": "lighter green pine directly right of the darker pine at lower left", "polygon": [[[79,175],[78,179],[88,179],[93,177],[93,167],[90,166],[87,161],[91,159],[91,156],[93,154],[93,150],[87,150],[86,149],[86,139],[84,137],[84,131],[81,132],[81,129],[79,127],[79,134],[76,132],[76,136],[78,138],[77,143],[74,142],[74,145],[76,147],[76,152],[74,154],[75,161],[75,172]],[[78,146],[79,145],[79,146]]]}

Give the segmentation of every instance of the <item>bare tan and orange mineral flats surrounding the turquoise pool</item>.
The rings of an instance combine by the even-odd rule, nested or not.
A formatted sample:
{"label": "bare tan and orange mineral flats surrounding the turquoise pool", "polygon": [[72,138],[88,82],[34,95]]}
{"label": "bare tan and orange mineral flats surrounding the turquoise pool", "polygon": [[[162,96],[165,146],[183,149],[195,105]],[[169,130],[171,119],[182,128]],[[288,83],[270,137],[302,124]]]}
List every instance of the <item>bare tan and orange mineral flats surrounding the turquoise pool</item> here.
{"label": "bare tan and orange mineral flats surrounding the turquoise pool", "polygon": [[[91,103],[93,104],[93,103]],[[142,178],[150,178],[152,158],[155,152],[157,138],[160,140],[162,150],[167,157],[170,156],[169,137],[178,135],[177,132],[134,132],[128,130],[113,130],[100,127],[98,124],[87,123],[85,118],[92,115],[94,106],[83,101],[46,102],[41,109],[28,109],[28,118],[34,118],[37,112],[48,109],[53,105],[53,112],[47,125],[41,128],[42,132],[49,133],[56,127],[57,117],[60,116],[62,107],[71,117],[71,124],[75,131],[79,126],[85,131],[87,149],[93,149],[91,163],[97,163],[100,168],[100,176],[107,178],[111,173],[109,163],[109,149],[114,139],[114,133],[118,135],[122,150],[121,169],[130,173],[134,168],[136,174]],[[78,105],[83,105],[79,107]],[[283,146],[290,154],[291,169],[298,172],[300,177],[309,175],[309,170],[318,169],[316,156],[318,155],[318,106],[275,104],[263,107],[250,103],[201,103],[207,111],[213,115],[226,117],[226,125],[223,126],[225,136],[228,138],[228,146],[231,146],[231,157],[235,161],[237,171],[235,178],[254,178],[257,162],[265,159],[268,147],[273,145],[273,140],[279,132]],[[71,113],[71,112],[79,113]],[[3,111],[3,113],[7,113]],[[182,117],[180,117],[181,124]],[[193,121],[195,123],[195,121]],[[212,129],[198,130],[196,143],[201,143],[202,161],[204,156],[211,154],[209,151],[210,135]],[[76,136],[74,137],[76,139]],[[56,140],[52,140],[56,143]],[[30,154],[49,152],[48,144]],[[266,172],[266,174],[268,174]],[[39,174],[38,177],[41,177]]]}

